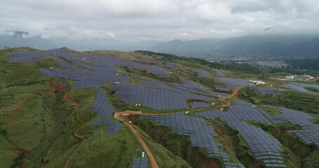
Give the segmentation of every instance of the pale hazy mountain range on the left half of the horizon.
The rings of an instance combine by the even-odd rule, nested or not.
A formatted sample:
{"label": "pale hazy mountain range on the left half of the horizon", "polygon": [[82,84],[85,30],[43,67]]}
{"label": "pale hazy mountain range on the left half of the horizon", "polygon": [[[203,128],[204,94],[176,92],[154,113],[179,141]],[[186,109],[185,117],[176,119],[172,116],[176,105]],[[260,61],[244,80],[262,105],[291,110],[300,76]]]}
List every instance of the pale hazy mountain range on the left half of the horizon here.
{"label": "pale hazy mountain range on the left half of the horizon", "polygon": [[29,36],[26,31],[12,31],[11,35],[0,35],[0,48],[30,47],[40,50],[50,48],[72,48],[74,50],[148,50],[158,41],[128,42],[109,39],[67,39],[67,38],[41,38]]}

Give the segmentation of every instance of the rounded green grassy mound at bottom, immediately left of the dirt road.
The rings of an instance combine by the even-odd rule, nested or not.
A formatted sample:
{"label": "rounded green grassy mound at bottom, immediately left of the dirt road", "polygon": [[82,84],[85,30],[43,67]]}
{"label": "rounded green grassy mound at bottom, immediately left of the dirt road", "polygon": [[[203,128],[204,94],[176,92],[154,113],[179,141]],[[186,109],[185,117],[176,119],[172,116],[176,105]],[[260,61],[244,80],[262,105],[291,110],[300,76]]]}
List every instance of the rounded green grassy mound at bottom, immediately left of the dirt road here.
{"label": "rounded green grassy mound at bottom, immediately left of the dirt road", "polygon": [[69,167],[130,167],[134,149],[141,148],[134,135],[124,126],[120,134],[105,131],[105,127],[97,127],[72,155]]}

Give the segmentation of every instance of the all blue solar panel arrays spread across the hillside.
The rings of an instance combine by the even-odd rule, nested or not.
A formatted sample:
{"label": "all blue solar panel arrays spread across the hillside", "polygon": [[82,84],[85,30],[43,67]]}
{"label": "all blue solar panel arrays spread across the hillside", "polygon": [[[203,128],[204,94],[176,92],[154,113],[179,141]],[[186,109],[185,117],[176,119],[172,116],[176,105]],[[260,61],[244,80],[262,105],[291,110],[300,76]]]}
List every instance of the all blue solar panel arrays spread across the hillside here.
{"label": "all blue solar panel arrays spread across the hillside", "polygon": [[[96,122],[91,123],[91,125],[109,125],[107,130],[107,133],[109,134],[117,134],[121,130],[121,123],[118,123],[112,118],[114,108],[107,101],[107,95],[100,87],[96,87],[96,85],[103,85],[104,83],[109,82],[121,83],[111,85],[111,88],[116,90],[118,99],[127,104],[140,103],[144,107],[157,110],[187,108],[186,101],[189,99],[204,101],[192,102],[192,108],[210,106],[210,104],[205,102],[210,102],[212,99],[194,94],[194,92],[210,96],[228,95],[225,93],[208,92],[203,85],[184,79],[182,79],[182,83],[163,83],[144,80],[140,81],[140,83],[138,83],[139,85],[126,85],[123,83],[128,83],[130,80],[129,78],[115,75],[115,73],[117,73],[116,66],[121,65],[144,69],[157,76],[167,77],[170,75],[170,71],[163,67],[174,69],[176,68],[175,64],[163,64],[163,67],[161,67],[156,65],[139,64],[138,62],[134,62],[130,59],[121,59],[111,55],[86,55],[83,53],[68,52],[64,49],[48,50],[46,53],[16,52],[11,55],[9,59],[11,62],[25,62],[26,64],[33,64],[46,56],[57,57],[57,64],[65,67],[66,69],[41,69],[40,73],[52,76],[53,78],[67,78],[69,80],[75,80],[74,88],[95,88],[97,92],[97,99],[92,104],[91,108],[100,115],[100,118]],[[66,60],[72,62],[72,64],[69,64]],[[79,69],[80,67],[81,69]],[[83,68],[89,70],[82,70]],[[205,74],[207,72],[202,72],[198,72],[198,75],[207,75]],[[219,77],[224,76],[224,74],[220,71],[215,71],[215,74]],[[240,78],[218,78],[218,80],[228,83],[231,88],[244,85],[254,86],[254,84],[249,80]],[[309,93],[309,91],[304,87],[314,87],[319,89],[318,85],[307,85],[302,83],[290,83],[288,86],[292,90],[307,93]],[[222,91],[231,90],[231,88],[217,86],[217,89]],[[273,88],[254,88],[257,92],[263,94],[275,94],[278,92],[277,89]],[[230,109],[226,112],[211,110],[196,113],[197,117],[186,116],[184,113],[175,113],[168,116],[142,116],[141,119],[154,120],[155,123],[161,123],[171,127],[172,132],[189,136],[192,146],[206,148],[210,157],[222,158],[224,160],[225,167],[243,167],[243,165],[230,162],[227,154],[219,151],[218,146],[220,146],[220,144],[217,145],[213,139],[213,137],[217,136],[217,134],[213,130],[213,127],[208,126],[205,123],[203,118],[219,118],[220,120],[224,120],[230,127],[235,127],[252,150],[254,157],[257,160],[262,160],[266,167],[285,167],[283,158],[280,156],[280,143],[277,139],[266,134],[266,132],[262,129],[252,125],[247,125],[247,123],[243,122],[243,120],[253,120],[254,122],[264,123],[267,125],[276,123],[300,125],[301,130],[293,130],[290,132],[297,134],[297,136],[306,142],[306,144],[315,144],[316,146],[319,146],[319,126],[318,124],[311,123],[310,120],[313,119],[313,117],[308,116],[306,113],[280,107],[278,108],[280,109],[280,114],[269,115],[269,113],[266,113],[262,109],[252,107],[252,104],[247,102],[234,102],[236,105],[230,106]],[[269,107],[276,108],[274,106]],[[137,165],[141,166],[141,162],[142,160],[145,160],[145,158],[137,159],[140,160],[136,160],[135,162]],[[147,159],[146,162],[148,167]],[[143,165],[145,165],[145,163],[143,163]]]}

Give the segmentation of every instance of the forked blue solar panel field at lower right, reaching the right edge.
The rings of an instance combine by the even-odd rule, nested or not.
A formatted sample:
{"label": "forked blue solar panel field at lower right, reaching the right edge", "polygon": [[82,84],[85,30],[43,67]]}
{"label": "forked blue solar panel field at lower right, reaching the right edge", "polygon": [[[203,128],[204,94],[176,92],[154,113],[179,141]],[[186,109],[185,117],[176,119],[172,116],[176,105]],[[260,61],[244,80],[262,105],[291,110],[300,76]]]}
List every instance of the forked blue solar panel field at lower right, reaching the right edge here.
{"label": "forked blue solar panel field at lower right, reaching the right edge", "polygon": [[234,101],[236,105],[230,106],[226,112],[218,110],[203,111],[196,113],[196,116],[210,120],[219,118],[224,120],[230,127],[235,127],[240,135],[245,139],[247,145],[252,150],[257,160],[262,160],[266,167],[285,167],[283,158],[280,156],[282,149],[280,142],[269,136],[259,127],[247,125],[242,120],[253,120],[254,122],[267,125],[277,123],[291,123],[300,125],[301,130],[293,130],[291,133],[297,134],[306,144],[315,144],[319,146],[319,125],[311,123],[313,117],[301,111],[294,111],[283,107],[269,106],[270,108],[280,109],[280,114],[269,115],[259,108],[252,107],[252,104],[243,101]]}

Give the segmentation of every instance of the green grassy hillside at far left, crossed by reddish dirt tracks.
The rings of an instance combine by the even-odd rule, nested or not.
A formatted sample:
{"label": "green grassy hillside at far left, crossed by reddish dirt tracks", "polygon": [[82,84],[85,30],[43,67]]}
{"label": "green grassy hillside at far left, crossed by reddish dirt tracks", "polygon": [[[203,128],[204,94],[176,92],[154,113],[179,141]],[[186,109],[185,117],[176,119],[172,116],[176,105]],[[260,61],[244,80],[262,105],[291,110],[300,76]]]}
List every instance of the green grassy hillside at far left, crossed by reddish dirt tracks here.
{"label": "green grassy hillside at far left, crossed by reddish dirt tracks", "polygon": [[[11,53],[11,50],[0,51],[0,70],[6,69],[5,73],[0,72],[0,80],[6,81],[7,85],[7,92],[0,92],[0,122],[6,127],[5,132],[1,129],[1,134],[6,133],[6,139],[1,137],[1,142],[4,143],[0,144],[0,148],[6,148],[1,151],[1,155],[7,153],[8,167],[21,166],[22,162],[27,163],[28,167],[38,167],[40,162],[43,165],[52,163],[54,167],[64,167],[69,155],[72,155],[81,143],[81,139],[74,137],[74,132],[79,128],[80,134],[88,133],[89,123],[96,118],[96,114],[88,110],[95,99],[95,91],[72,90],[68,95],[79,102],[80,113],[85,121],[85,125],[80,127],[81,123],[74,114],[74,106],[62,100],[63,95],[57,92],[56,88],[53,90],[57,97],[51,97],[50,88],[46,88],[50,78],[38,73],[40,68],[58,67],[55,65],[55,59],[45,57],[33,65],[9,63],[7,57]],[[71,86],[69,80],[56,80],[55,83],[67,88]],[[32,98],[27,101],[30,97]],[[22,104],[23,102],[25,103]],[[21,105],[20,108],[12,111],[11,108],[18,104]],[[2,114],[3,112],[11,114]],[[8,145],[11,148],[30,151],[31,160],[16,156]]]}

